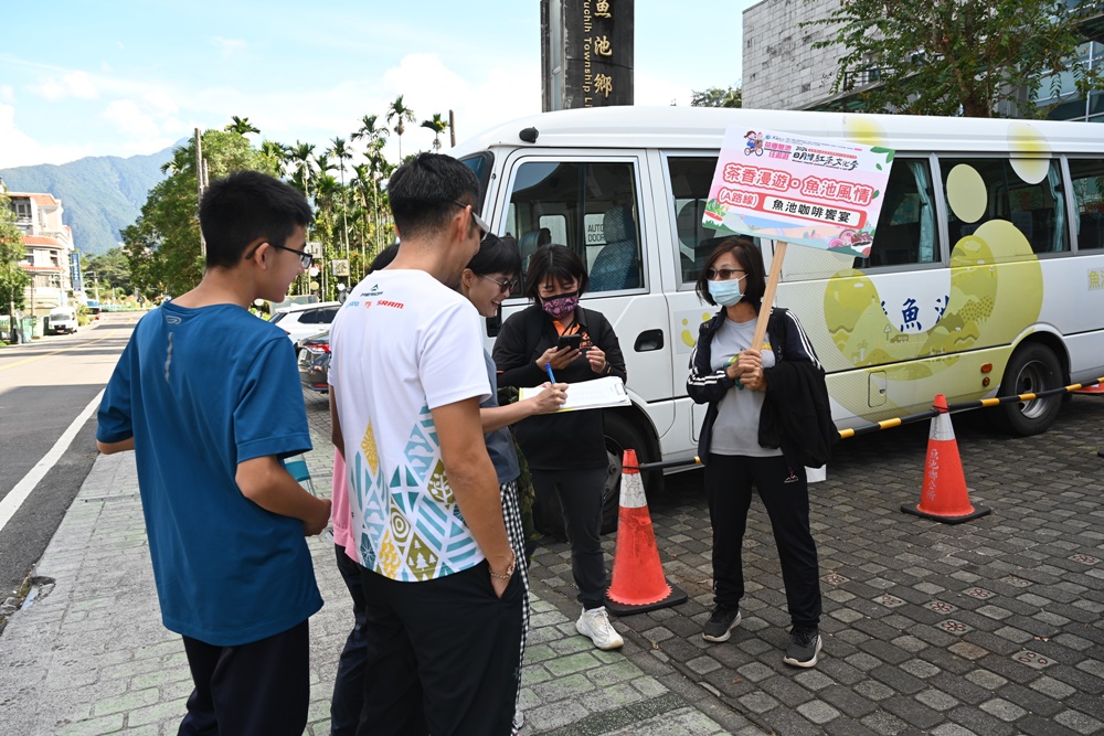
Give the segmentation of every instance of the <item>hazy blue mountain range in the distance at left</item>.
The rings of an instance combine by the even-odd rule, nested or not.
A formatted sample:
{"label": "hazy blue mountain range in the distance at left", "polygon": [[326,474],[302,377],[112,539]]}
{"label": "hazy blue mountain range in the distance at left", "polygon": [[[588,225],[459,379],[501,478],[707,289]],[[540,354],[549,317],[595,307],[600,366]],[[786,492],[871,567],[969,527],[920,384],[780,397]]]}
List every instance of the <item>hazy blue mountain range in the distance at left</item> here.
{"label": "hazy blue mountain range in the distance at left", "polygon": [[99,255],[119,245],[119,231],[132,225],[149,190],[164,179],[161,166],[187,140],[147,156],[97,156],[68,163],[0,169],[8,190],[45,192],[62,201],[62,220],[73,228],[77,250]]}

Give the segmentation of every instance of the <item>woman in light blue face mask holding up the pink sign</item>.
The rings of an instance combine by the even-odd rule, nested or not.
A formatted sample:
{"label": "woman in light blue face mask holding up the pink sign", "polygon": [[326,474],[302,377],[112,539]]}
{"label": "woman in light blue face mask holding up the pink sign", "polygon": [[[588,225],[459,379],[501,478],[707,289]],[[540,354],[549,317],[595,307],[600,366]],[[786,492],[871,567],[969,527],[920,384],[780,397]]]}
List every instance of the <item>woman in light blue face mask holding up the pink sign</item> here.
{"label": "woman in light blue face mask holding up the pink sign", "polygon": [[805,466],[827,459],[813,456],[825,454],[831,420],[824,370],[792,312],[772,310],[766,340],[751,344],[764,288],[763,257],[743,237],[722,241],[698,278],[699,298],[721,307],[701,326],[687,380],[690,398],[709,404],[698,456],[713,525],[715,607],[702,636],[728,641],[740,623],[741,545],[754,487],[771,518],[793,623],[783,661],[809,668],[821,644],[820,575]]}

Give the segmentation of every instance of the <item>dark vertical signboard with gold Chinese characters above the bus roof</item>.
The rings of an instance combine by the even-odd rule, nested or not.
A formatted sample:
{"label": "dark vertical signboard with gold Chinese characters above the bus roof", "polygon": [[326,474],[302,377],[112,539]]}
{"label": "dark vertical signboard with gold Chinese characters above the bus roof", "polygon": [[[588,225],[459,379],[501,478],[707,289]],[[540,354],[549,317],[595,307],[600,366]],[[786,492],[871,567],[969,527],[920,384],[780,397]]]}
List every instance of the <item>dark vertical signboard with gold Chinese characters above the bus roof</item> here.
{"label": "dark vertical signboard with gold Chinese characters above the bus roof", "polygon": [[543,109],[633,104],[634,0],[541,0]]}

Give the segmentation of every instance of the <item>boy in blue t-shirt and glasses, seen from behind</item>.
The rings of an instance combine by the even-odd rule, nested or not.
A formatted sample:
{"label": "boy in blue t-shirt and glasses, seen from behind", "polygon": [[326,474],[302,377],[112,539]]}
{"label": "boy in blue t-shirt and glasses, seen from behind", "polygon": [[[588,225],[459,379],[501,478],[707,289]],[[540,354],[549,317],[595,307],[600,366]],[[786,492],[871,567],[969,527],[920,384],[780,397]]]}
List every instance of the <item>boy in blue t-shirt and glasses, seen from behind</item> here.
{"label": "boy in blue t-shirt and glasses, seen from behind", "polygon": [[135,450],[166,628],[194,690],[180,734],[300,736],[307,619],[322,606],[304,535],[330,502],[282,459],[310,449],[295,351],[247,311],[309,267],[312,214],[288,184],[241,171],[206,190],[206,270],[144,317],[99,406],[96,445]]}

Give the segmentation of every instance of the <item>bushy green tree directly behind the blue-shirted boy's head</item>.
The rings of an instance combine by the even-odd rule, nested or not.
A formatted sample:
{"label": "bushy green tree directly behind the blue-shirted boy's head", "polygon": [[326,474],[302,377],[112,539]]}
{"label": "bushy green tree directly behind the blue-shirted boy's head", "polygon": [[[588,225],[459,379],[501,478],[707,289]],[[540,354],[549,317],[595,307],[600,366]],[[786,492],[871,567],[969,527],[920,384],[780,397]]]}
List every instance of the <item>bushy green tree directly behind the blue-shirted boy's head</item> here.
{"label": "bushy green tree directly behind the blue-shirted boy's head", "polygon": [[[277,173],[272,161],[237,132],[205,131],[203,157],[211,179],[242,169]],[[121,233],[131,282],[147,298],[181,295],[203,276],[194,143],[178,149],[170,164],[169,175],[150,190],[137,222]]]}

